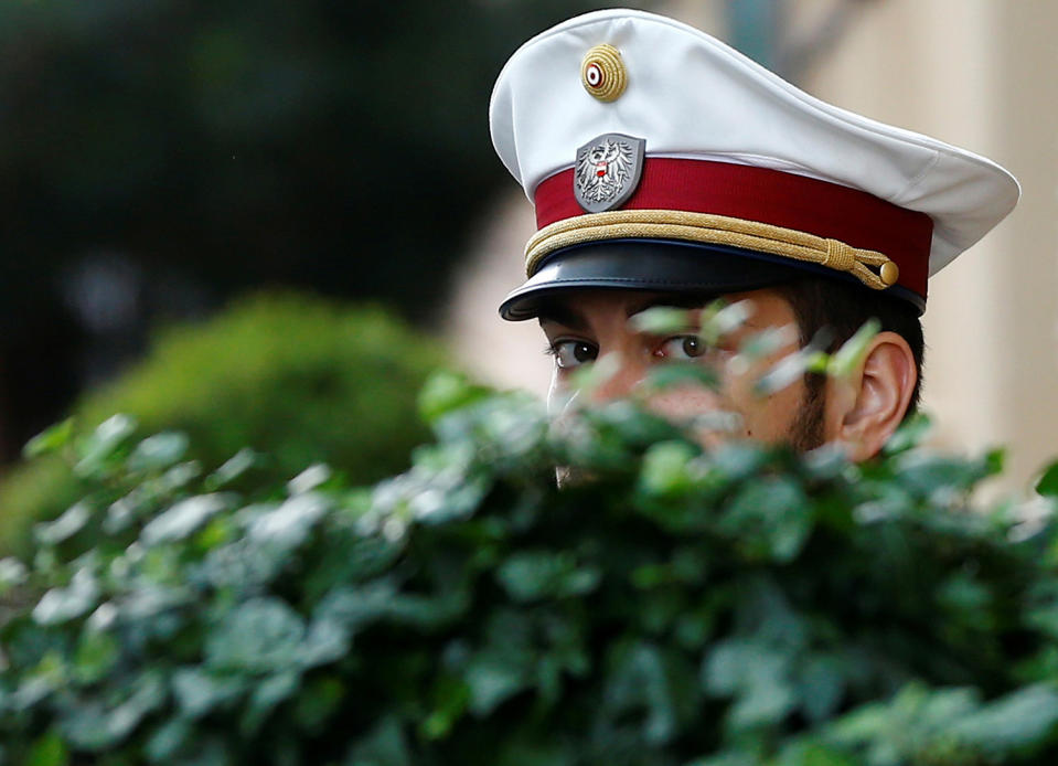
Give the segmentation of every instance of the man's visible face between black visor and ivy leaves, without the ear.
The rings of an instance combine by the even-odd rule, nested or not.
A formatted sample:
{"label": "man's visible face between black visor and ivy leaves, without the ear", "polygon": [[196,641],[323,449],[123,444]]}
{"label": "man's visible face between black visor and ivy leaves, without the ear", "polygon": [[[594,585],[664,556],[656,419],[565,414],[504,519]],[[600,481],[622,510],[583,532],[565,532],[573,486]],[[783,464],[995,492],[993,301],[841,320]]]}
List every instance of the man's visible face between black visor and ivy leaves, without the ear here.
{"label": "man's visible face between black visor and ivy leaves, without the ear", "polygon": [[[687,312],[686,331],[664,336],[635,329],[630,318],[653,306],[671,305],[664,294],[632,290],[570,290],[541,315],[548,353],[555,359],[552,397],[568,396],[570,376],[585,364],[613,354],[616,372],[591,393],[597,402],[634,395],[651,368],[673,362],[710,364],[720,376],[718,391],[704,384],[684,384],[650,393],[651,409],[677,422],[713,412],[733,413],[730,435],[770,443],[786,441],[811,449],[823,441],[823,402],[798,375],[790,385],[768,395],[755,390],[760,376],[783,357],[799,350],[799,333],[790,304],[771,289],[728,294],[727,302],[748,300],[751,313],[745,323],[707,348],[699,338],[701,309]],[[784,328],[783,344],[773,353],[745,364],[736,359],[750,336]],[[702,429],[705,444],[715,443],[715,430]]]}

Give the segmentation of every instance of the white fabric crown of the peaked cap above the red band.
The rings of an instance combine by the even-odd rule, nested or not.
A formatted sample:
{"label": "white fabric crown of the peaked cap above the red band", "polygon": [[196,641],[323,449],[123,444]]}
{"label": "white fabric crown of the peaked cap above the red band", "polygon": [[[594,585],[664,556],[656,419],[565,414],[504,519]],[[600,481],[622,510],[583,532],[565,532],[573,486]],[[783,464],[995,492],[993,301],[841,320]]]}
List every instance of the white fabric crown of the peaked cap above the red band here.
{"label": "white fabric crown of the peaked cap above the red band", "polygon": [[[612,100],[594,95],[583,75],[586,55],[600,45],[616,50],[623,70],[623,91]],[[921,289],[911,286],[922,301],[926,272],[977,242],[1019,195],[1014,177],[988,159],[825,104],[708,34],[635,10],[576,17],[522,45],[496,81],[490,125],[504,166],[538,205],[545,180],[575,169],[578,150],[592,140],[618,134],[644,140],[648,172],[659,158],[762,168],[925,213],[932,222],[921,256],[928,268],[921,264]],[[567,208],[556,220],[570,217]],[[531,263],[530,276],[545,260]]]}

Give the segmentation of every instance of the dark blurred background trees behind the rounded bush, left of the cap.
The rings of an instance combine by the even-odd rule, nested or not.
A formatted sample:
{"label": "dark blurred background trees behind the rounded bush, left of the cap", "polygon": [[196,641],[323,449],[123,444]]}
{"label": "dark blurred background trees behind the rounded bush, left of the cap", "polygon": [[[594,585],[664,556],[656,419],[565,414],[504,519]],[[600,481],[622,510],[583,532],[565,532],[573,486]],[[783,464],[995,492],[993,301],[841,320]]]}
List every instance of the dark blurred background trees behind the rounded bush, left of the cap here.
{"label": "dark blurred background trees behind the rounded bush, left of the cap", "polygon": [[500,66],[605,4],[0,4],[0,459],[252,286],[428,318],[503,180]]}

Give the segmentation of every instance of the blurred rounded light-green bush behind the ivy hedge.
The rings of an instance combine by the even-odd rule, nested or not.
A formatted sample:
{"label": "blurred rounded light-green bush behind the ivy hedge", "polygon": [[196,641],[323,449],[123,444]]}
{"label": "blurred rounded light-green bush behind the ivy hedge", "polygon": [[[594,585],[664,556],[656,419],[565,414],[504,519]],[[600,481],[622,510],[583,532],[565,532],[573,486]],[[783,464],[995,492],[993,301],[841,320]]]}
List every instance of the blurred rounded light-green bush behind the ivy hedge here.
{"label": "blurred rounded light-green bush behind the ivy hedge", "polygon": [[[276,480],[327,461],[371,482],[404,468],[428,437],[415,397],[442,360],[437,339],[382,309],[259,294],[161,332],[143,361],[84,396],[73,419],[30,450],[122,412],[141,435],[179,429],[203,465],[250,447],[266,454],[253,460],[258,471]],[[57,456],[14,468],[0,482],[0,549],[24,545],[33,521],[81,492]]]}

